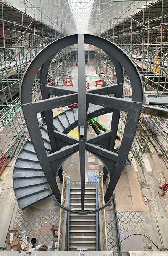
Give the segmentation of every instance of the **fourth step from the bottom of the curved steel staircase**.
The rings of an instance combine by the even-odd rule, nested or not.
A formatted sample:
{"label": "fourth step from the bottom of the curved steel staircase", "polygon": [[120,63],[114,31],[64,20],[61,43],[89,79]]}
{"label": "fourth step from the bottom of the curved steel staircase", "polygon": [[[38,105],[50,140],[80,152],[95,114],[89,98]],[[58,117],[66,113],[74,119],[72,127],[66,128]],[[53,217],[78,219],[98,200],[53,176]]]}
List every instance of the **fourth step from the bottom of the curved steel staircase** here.
{"label": "fourth step from the bottom of the curved steel staircase", "polygon": [[23,169],[14,169],[13,179],[23,179],[23,178],[31,178],[31,177],[45,177],[43,171],[36,170],[23,170]]}

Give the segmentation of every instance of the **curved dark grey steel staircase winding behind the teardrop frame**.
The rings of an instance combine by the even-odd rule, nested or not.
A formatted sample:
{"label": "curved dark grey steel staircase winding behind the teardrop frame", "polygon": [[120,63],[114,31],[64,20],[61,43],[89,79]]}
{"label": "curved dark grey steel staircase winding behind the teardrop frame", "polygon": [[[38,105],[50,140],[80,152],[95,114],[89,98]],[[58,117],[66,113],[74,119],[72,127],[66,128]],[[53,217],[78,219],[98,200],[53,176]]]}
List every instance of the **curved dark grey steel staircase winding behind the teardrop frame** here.
{"label": "curved dark grey steel staircase winding behind the teardrop frame", "polygon": [[[100,107],[91,104],[88,108],[87,119],[95,115],[99,116],[100,110]],[[102,111],[108,113],[108,108],[101,110],[101,113]],[[53,123],[56,131],[68,133],[78,125],[78,108],[71,108],[60,113],[53,118]],[[40,131],[48,155],[51,145],[47,125],[42,125]],[[22,209],[53,195],[31,140],[24,144],[16,160],[13,170],[13,188],[19,207]]]}

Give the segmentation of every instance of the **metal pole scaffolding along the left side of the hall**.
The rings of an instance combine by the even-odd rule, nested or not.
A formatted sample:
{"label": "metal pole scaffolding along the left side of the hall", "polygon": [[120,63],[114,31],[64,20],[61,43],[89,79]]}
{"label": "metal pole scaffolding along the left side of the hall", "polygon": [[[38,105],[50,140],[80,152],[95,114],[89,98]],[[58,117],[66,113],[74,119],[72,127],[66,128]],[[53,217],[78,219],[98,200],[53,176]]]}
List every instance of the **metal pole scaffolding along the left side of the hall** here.
{"label": "metal pole scaffolding along the left side of the hall", "polygon": [[[27,13],[27,8],[15,8],[10,2],[0,2],[0,135],[1,150],[10,158],[18,154],[29,137],[20,105],[19,87],[29,62],[41,49],[66,35],[58,21],[49,20],[40,11],[41,19]],[[31,7],[31,9],[36,7]],[[45,20],[46,22],[46,20]],[[53,25],[54,24],[54,25]],[[61,86],[71,67],[71,48],[65,48],[52,60],[47,84]],[[34,80],[32,99],[41,98],[40,71]],[[39,121],[41,117],[39,115]]]}

